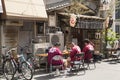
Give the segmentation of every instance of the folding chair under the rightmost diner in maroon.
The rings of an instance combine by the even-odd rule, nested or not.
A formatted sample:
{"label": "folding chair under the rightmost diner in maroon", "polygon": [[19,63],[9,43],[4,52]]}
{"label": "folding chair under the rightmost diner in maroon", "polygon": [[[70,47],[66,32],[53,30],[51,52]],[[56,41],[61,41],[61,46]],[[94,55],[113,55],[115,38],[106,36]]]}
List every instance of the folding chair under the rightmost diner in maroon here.
{"label": "folding chair under the rightmost diner in maroon", "polygon": [[92,57],[90,59],[86,59],[85,63],[87,64],[87,68],[89,69],[95,69],[96,65],[95,65],[95,60],[94,60],[94,50],[89,50],[88,54],[92,54]]}

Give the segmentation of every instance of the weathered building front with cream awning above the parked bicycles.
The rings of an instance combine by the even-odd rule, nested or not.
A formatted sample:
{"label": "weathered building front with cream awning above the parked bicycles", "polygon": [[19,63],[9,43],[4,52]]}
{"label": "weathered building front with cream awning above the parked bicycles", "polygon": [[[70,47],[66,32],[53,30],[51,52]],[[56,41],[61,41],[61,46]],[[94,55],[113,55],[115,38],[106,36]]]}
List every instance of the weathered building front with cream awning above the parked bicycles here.
{"label": "weathered building front with cream awning above the parked bicycles", "polygon": [[[44,36],[47,13],[43,0],[1,0],[0,46],[30,46],[32,40]],[[4,49],[2,49],[4,53]]]}

